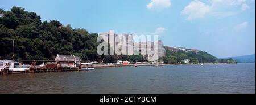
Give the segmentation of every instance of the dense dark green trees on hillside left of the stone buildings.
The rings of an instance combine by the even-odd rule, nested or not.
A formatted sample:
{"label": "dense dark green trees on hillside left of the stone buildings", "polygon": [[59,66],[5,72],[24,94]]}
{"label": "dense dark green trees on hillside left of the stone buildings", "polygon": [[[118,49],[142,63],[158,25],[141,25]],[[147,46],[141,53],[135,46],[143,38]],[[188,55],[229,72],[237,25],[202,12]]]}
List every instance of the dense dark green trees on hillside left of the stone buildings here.
{"label": "dense dark green trees on hillside left of the stone buildings", "polygon": [[76,55],[82,60],[98,60],[96,33],[73,29],[57,20],[41,21],[35,12],[22,7],[4,11],[0,17],[0,59],[11,57],[13,40],[15,59],[52,60],[57,54]]}

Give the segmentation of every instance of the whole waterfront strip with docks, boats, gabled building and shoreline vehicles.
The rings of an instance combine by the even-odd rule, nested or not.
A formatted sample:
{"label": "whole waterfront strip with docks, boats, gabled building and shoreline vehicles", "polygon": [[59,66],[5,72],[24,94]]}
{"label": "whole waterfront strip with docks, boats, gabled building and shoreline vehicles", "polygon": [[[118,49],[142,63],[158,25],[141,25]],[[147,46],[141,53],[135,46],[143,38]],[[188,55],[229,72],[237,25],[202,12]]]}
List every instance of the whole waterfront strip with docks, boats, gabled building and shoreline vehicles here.
{"label": "whole waterfront strip with docks, boats, gabled building and shoreline vehicles", "polygon": [[[24,64],[25,63],[25,64]],[[97,64],[94,64],[97,63]],[[104,67],[137,67],[137,66],[164,66],[170,64],[156,62],[135,62],[118,60],[117,63],[84,62],[79,56],[57,55],[55,60],[0,60],[0,74],[16,73],[43,73],[43,72],[68,72],[68,71],[88,71],[94,68]]]}

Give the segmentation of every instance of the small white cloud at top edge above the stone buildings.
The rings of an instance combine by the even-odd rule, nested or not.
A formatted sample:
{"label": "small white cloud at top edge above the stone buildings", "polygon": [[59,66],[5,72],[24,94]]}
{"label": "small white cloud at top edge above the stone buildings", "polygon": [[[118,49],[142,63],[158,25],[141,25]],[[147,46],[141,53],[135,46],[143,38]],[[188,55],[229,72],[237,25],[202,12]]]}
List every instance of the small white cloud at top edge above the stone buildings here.
{"label": "small white cloud at top edge above the stone buildings", "polygon": [[171,6],[170,0],[151,0],[151,2],[147,4],[146,8],[160,11],[170,6]]}

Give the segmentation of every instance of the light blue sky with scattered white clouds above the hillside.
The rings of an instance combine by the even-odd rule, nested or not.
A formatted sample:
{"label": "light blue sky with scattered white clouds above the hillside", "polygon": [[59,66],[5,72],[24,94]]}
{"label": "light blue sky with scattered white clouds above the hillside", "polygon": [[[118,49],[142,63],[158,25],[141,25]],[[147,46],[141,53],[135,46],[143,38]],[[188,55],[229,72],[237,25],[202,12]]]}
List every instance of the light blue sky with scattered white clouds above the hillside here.
{"label": "light blue sky with scattered white clouds above the hillside", "polygon": [[90,33],[159,34],[218,58],[255,54],[255,0],[1,0]]}

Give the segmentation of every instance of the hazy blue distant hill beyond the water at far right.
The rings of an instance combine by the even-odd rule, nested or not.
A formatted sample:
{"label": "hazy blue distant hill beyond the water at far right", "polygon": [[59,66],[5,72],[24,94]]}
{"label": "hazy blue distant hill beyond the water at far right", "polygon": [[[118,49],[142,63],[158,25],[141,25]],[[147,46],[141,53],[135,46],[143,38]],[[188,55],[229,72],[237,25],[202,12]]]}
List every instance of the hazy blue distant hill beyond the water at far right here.
{"label": "hazy blue distant hill beyond the water at far right", "polygon": [[[255,54],[253,55],[245,55],[245,56],[236,56],[229,57],[236,60],[238,63],[255,63]],[[225,58],[223,58],[225,59]]]}

